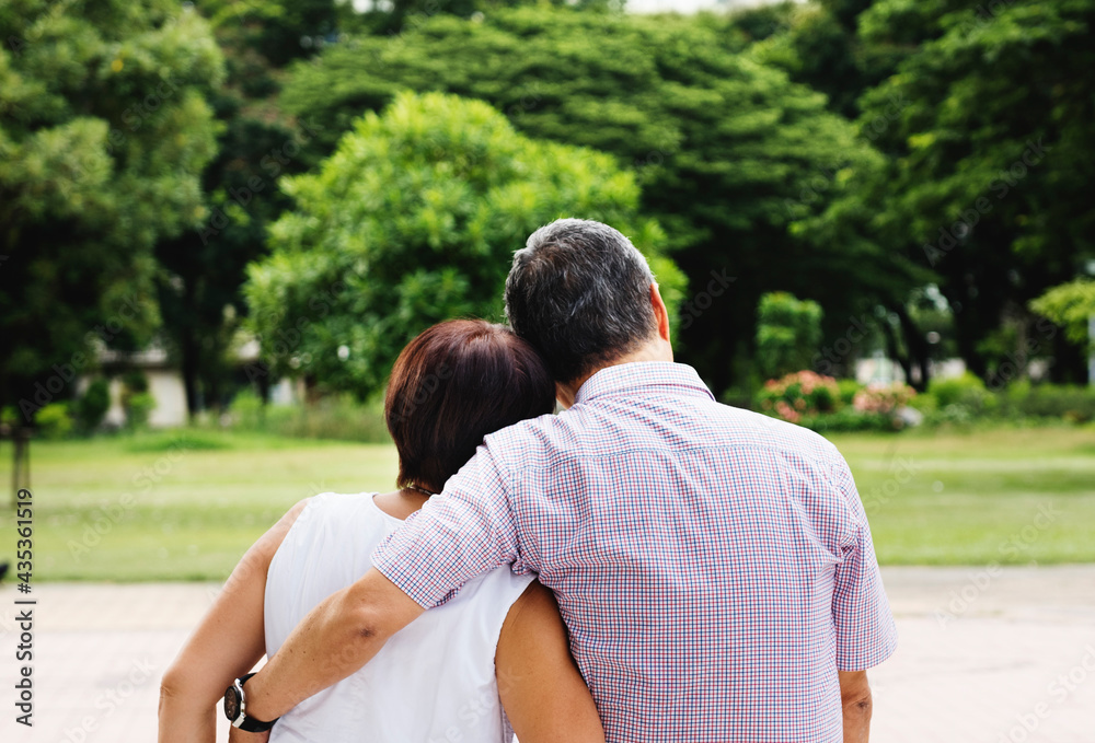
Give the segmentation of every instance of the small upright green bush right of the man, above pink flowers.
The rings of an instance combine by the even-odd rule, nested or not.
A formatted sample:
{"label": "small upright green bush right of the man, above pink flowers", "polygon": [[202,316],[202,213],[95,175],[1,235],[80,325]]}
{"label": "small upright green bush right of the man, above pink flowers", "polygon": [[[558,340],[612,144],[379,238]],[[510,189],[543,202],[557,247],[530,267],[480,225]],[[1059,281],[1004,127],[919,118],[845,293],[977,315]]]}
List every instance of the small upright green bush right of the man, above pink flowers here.
{"label": "small upright green bush right of the man, above pink flowers", "polygon": [[776,291],[760,298],[757,309],[757,360],[766,379],[809,369],[821,343],[817,302]]}

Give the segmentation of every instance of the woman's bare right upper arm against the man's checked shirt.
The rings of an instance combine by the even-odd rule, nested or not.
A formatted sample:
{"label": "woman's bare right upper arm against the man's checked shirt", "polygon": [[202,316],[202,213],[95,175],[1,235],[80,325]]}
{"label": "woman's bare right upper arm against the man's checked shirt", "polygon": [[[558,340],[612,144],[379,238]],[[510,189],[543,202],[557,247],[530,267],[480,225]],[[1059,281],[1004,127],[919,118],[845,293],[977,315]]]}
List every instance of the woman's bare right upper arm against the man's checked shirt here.
{"label": "woman's bare right upper arm against the man's checked shirt", "polygon": [[533,581],[509,610],[495,654],[498,695],[521,743],[604,743],[551,590]]}

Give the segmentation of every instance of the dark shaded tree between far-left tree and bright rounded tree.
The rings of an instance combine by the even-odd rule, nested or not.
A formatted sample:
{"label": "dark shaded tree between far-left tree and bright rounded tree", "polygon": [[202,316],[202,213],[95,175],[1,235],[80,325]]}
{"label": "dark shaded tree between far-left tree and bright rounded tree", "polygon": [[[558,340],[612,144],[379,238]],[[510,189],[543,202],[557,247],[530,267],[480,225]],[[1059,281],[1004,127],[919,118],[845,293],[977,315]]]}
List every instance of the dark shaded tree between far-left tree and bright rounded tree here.
{"label": "dark shaded tree between far-left tree and bright rounded tree", "polygon": [[281,67],[314,54],[338,20],[334,0],[199,0],[197,9],[226,57],[224,83],[209,96],[217,155],[201,175],[201,223],[155,249],[164,335],[191,416],[220,406],[238,384],[231,351],[246,313],[245,268],[266,254],[266,229],[289,206],[276,179],[314,164],[301,156],[307,117],[277,106]]}

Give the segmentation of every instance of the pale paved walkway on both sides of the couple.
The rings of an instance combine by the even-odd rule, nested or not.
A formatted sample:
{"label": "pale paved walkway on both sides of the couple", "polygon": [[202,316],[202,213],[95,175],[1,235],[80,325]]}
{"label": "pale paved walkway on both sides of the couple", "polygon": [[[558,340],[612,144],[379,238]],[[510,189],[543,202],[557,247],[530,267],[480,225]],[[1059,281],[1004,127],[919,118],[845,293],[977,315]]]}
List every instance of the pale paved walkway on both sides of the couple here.
{"label": "pale paved walkway on both sides of the couple", "polygon": [[[883,573],[901,646],[871,674],[873,743],[1095,743],[1095,566]],[[4,585],[0,741],[153,741],[159,678],[216,591],[36,587],[28,730],[12,706],[20,596]]]}

